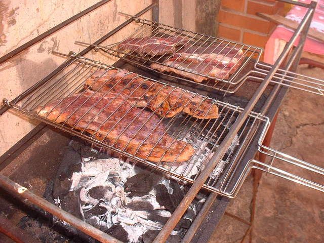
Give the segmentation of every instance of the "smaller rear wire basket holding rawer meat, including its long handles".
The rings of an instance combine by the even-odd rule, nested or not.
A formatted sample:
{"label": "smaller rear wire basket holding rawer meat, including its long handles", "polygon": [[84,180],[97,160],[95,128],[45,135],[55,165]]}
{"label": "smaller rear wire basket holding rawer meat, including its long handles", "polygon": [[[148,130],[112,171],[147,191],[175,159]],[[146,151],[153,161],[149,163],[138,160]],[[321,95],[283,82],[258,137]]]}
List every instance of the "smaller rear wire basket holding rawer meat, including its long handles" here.
{"label": "smaller rear wire basket holding rawer meat, including its long handles", "polygon": [[[235,93],[246,80],[262,82],[272,67],[271,65],[259,62],[262,49],[258,47],[174,28],[150,20],[134,18],[134,22],[139,27],[128,38],[108,46],[95,45],[96,50],[100,49],[109,55],[163,74],[164,76],[184,80],[197,86],[213,88],[225,93]],[[149,38],[164,38],[165,42],[168,42],[168,39],[173,40],[172,38],[176,38],[178,41],[175,43],[175,46],[178,48],[175,49],[174,54],[153,55],[152,53],[156,53],[158,45],[154,47],[151,45],[146,47],[140,45],[141,41],[148,38],[148,36]],[[120,44],[125,43],[129,39],[134,39],[132,44],[139,46],[132,50],[125,50]],[[84,42],[76,43],[92,45]],[[164,45],[164,42],[162,41],[161,44]],[[183,53],[187,54],[186,51],[194,53],[194,55],[183,56]],[[208,56],[209,54],[213,55],[210,57]],[[252,60],[254,62],[253,68],[251,70],[245,68]],[[206,69],[214,61],[218,63],[214,67],[223,73],[223,77],[211,76],[211,70]],[[194,67],[192,67],[193,63],[195,63]],[[159,70],[152,68],[152,65],[158,65],[160,67]],[[161,68],[171,71],[163,72]],[[179,70],[180,74],[172,71],[175,69]],[[204,80],[201,83],[195,82],[192,77],[195,78],[197,76],[201,77],[198,79]],[[323,80],[284,69],[278,69],[270,83],[317,95],[324,95]]]}

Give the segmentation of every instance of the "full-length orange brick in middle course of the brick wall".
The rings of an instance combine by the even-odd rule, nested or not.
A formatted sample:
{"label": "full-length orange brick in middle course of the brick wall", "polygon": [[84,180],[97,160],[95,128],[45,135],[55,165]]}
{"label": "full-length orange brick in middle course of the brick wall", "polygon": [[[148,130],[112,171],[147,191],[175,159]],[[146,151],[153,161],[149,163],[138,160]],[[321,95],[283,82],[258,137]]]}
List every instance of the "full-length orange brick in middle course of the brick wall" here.
{"label": "full-length orange brick in middle course of the brick wall", "polygon": [[274,24],[270,21],[245,14],[237,14],[231,11],[220,10],[218,22],[233,25],[239,28],[254,30],[261,33],[269,33]]}

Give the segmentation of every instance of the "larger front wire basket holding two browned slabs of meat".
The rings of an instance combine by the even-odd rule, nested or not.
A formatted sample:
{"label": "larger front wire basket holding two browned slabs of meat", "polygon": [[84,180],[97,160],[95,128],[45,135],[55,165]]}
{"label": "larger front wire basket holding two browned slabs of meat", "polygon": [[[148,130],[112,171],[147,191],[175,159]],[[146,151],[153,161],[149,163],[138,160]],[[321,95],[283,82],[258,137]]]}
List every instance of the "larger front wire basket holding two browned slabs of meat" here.
{"label": "larger front wire basket holding two browned slabs of meat", "polygon": [[[164,171],[187,182],[193,183],[196,180],[199,173],[204,169],[204,166],[211,159],[212,155],[215,153],[218,146],[231,129],[232,124],[235,123],[238,114],[243,110],[242,108],[233,106],[229,103],[224,103],[219,100],[214,100],[209,97],[189,92],[187,90],[182,90],[178,87],[164,84],[156,80],[134,74],[133,72],[117,69],[85,57],[72,56],[72,58],[73,62],[52,79],[50,79],[47,83],[43,84],[41,87],[38,87],[23,100],[17,103],[11,103],[10,105],[31,117],[44,121],[45,123],[67,131],[73,135],[82,137],[97,145],[126,155],[134,160],[140,161],[148,166]],[[110,78],[107,78],[105,75],[111,71],[114,71],[115,74]],[[122,78],[118,77],[118,74],[122,72],[126,74],[123,74],[124,76]],[[92,80],[92,82],[89,83],[89,80]],[[102,80],[104,80],[104,82],[102,82]],[[128,83],[125,82],[125,80],[128,80]],[[199,104],[195,104],[195,109],[199,109],[203,103],[208,102],[208,104],[216,105],[218,107],[218,115],[215,118],[205,119],[204,117],[194,117],[194,112],[192,115],[188,114],[188,112],[178,112],[170,117],[168,117],[166,113],[159,114],[158,116],[156,110],[154,110],[152,106],[149,106],[149,104],[139,104],[141,103],[140,99],[138,99],[136,102],[132,100],[132,97],[135,97],[134,95],[137,91],[137,87],[134,87],[134,80],[140,80],[141,82],[137,87],[143,87],[144,84],[147,85],[147,82],[150,82],[151,85],[158,85],[158,87],[162,87],[162,90],[181,90],[181,94],[189,94],[189,97],[191,98],[199,98],[200,102]],[[102,89],[94,88],[96,85],[99,85]],[[119,103],[117,102],[118,105],[114,106],[115,110],[110,110],[108,116],[102,115],[104,112],[111,109],[109,106],[112,104],[111,102],[117,101],[119,97],[124,94],[123,92],[127,90],[128,85],[131,88],[130,90],[133,90],[133,92],[128,93],[128,96],[126,98],[124,97],[123,101]],[[103,89],[104,87],[108,88]],[[119,87],[119,92],[113,93],[112,89],[116,87]],[[110,95],[109,102],[104,102],[107,95]],[[170,98],[170,96],[172,96],[172,92],[168,94],[167,98]],[[148,101],[148,103],[154,100],[155,97],[159,97],[158,92]],[[79,100],[82,98],[82,101]],[[96,98],[95,102],[91,101],[93,98]],[[126,103],[130,100],[133,102],[131,105]],[[69,103],[62,108],[62,104],[64,102],[66,103],[67,101]],[[191,101],[193,100],[190,99],[188,102],[186,102],[186,106],[188,106]],[[100,102],[104,102],[104,105],[100,106]],[[163,103],[164,101],[160,102]],[[99,112],[99,108],[97,106],[100,108]],[[46,107],[50,108],[48,108],[47,112],[44,113]],[[59,109],[57,107],[61,108]],[[124,109],[125,112],[123,113],[123,116],[120,114],[117,117],[114,116],[114,112],[116,110],[119,111],[121,109],[120,107],[129,108]],[[136,115],[137,117],[141,117],[140,120],[132,117],[132,109],[137,110]],[[170,107],[170,110],[172,109],[173,107]],[[66,112],[68,112],[67,117],[61,119],[61,115],[65,114]],[[52,114],[55,114],[54,118]],[[132,119],[128,121],[127,126],[125,127],[123,117],[129,116],[131,116]],[[206,116],[206,114],[203,116]],[[84,123],[84,117],[88,117],[88,119],[86,119],[87,125]],[[152,121],[152,118],[154,122]],[[73,123],[69,122],[68,119],[74,120]],[[89,128],[93,125],[92,121],[93,123],[95,121],[97,122],[95,124],[96,129]],[[105,126],[107,121],[112,121],[113,124],[110,123],[110,130],[103,133],[99,128]],[[83,123],[84,125],[80,125],[80,123]],[[90,123],[91,125],[89,125]],[[136,124],[136,126],[132,126],[132,123]],[[150,124],[152,128],[148,128],[146,126],[147,124]],[[233,140],[232,145],[228,148],[227,153],[223,159],[219,161],[213,173],[211,173],[208,181],[206,181],[204,185],[205,188],[211,191],[221,192],[222,188],[226,187],[226,184],[228,183],[227,179],[230,178],[230,176],[226,175],[224,180],[219,179],[221,177],[224,178],[225,171],[228,171],[228,173],[233,171],[226,170],[226,168],[236,167],[239,161],[239,155],[242,153],[242,151],[244,151],[244,149],[247,148],[250,138],[254,135],[257,128],[260,126],[266,126],[266,124],[267,118],[265,116],[255,112],[252,112],[249,115],[244,126],[242,126],[240,131],[237,133],[236,138]],[[110,136],[108,134],[113,131],[113,127],[119,127],[119,132],[113,136]],[[122,128],[120,129],[120,127]],[[144,131],[144,128],[146,130],[149,129],[150,131]],[[145,141],[152,141],[149,140],[150,138],[148,137],[152,134],[154,135],[154,131],[161,128],[163,129],[164,134],[161,135],[159,139],[155,140],[155,143],[150,142],[150,146],[147,146],[148,143]],[[123,147],[118,144],[118,138],[123,136],[124,133],[129,134],[129,129],[131,129],[132,134],[135,135],[133,135],[133,137],[129,137],[128,143]],[[142,135],[142,140],[136,137],[136,134],[139,133]],[[143,134],[145,134],[145,136]],[[115,142],[111,141],[111,137],[117,137]],[[181,149],[180,151],[176,151],[177,154],[162,151],[162,153],[159,154],[159,159],[152,159],[153,156],[150,156],[150,154],[154,153],[154,149],[160,145],[160,140],[163,140],[166,137],[168,138],[167,141],[170,142],[171,140],[168,149],[171,149],[174,144],[180,144],[182,145],[182,150],[190,146],[190,148],[193,148],[194,152],[185,161],[177,160],[179,156],[181,157]],[[109,138],[110,141],[106,138]],[[132,140],[140,140],[140,142],[136,143],[135,145],[137,147],[130,151],[128,147],[133,146],[131,142]],[[144,153],[143,155],[139,153],[139,151],[148,152]],[[175,150],[172,152],[174,153]],[[172,159],[164,160],[163,157],[165,154],[169,154],[169,158]],[[182,153],[182,155],[186,154]],[[222,181],[222,183],[220,183],[220,181]]]}

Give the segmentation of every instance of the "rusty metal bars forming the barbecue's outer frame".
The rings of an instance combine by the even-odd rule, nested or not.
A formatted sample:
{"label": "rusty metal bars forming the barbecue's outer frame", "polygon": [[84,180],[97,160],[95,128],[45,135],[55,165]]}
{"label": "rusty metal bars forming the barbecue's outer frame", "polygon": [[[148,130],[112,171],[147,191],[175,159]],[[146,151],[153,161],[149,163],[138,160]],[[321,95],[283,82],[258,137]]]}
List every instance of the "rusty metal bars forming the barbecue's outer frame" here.
{"label": "rusty metal bars forming the barbecue's outer frame", "polygon": [[[265,79],[263,80],[261,86],[262,88],[259,89],[258,91],[264,90],[263,88],[269,83],[271,82],[271,77],[272,75],[274,75],[274,73],[276,72],[276,70],[278,69],[278,66],[282,63],[282,61],[284,60],[284,58],[288,55],[288,52],[290,51],[290,49],[292,48],[292,44],[295,42],[298,33],[301,33],[301,38],[300,38],[300,42],[298,47],[296,48],[296,50],[293,52],[292,56],[289,58],[287,65],[285,67],[285,69],[290,69],[292,68],[293,70],[296,68],[297,64],[298,64],[298,60],[300,58],[301,55],[301,50],[303,48],[305,39],[306,39],[306,35],[307,35],[307,31],[309,29],[309,24],[312,18],[312,12],[315,9],[316,3],[312,2],[311,4],[304,4],[304,3],[299,3],[299,2],[294,2],[292,0],[278,0],[280,2],[286,2],[286,3],[290,3],[293,5],[297,5],[297,6],[301,6],[301,7],[305,7],[308,9],[307,14],[305,15],[304,19],[302,20],[302,22],[300,23],[298,29],[296,30],[295,34],[292,36],[291,41],[286,45],[286,48],[284,50],[284,52],[280,55],[280,57],[278,58],[278,60],[276,61],[276,63],[274,64],[273,67],[270,68],[270,71],[267,73]],[[154,21],[158,20],[158,2],[153,0],[153,2],[155,4],[150,5],[149,7],[147,7],[145,10],[141,11],[140,13],[144,13],[149,9],[152,9],[153,11],[153,16],[152,19],[154,19]],[[140,15],[140,13],[138,15]],[[117,32],[120,28],[122,28],[123,26],[126,26],[127,23],[130,23],[131,19],[127,20],[126,22],[124,22],[123,24],[119,25],[117,28],[115,28],[114,30],[112,30],[111,32],[109,32],[107,35],[105,35],[104,37],[100,38],[96,43],[92,44],[90,47],[86,48],[83,53],[87,53],[90,50],[92,50],[96,45],[100,44],[104,39],[106,39],[107,37],[109,37],[111,34]],[[71,61],[71,59],[69,60]],[[64,66],[67,64],[68,62],[64,63],[63,65],[61,65],[60,67],[58,67],[55,71],[53,71],[51,74],[49,74],[47,77],[45,77],[44,79],[42,79],[41,82],[37,83],[36,85],[34,85],[33,87],[31,87],[30,89],[28,89],[26,92],[24,92],[23,94],[21,94],[20,96],[18,96],[16,99],[14,99],[12,102],[16,102],[19,101],[20,99],[22,99],[23,97],[25,97],[26,95],[28,95],[33,89],[37,88],[37,86],[42,85],[44,83],[47,82],[47,80],[51,77],[53,77],[53,75],[55,75],[55,73],[57,73],[58,71],[62,70],[62,68],[64,68]],[[282,95],[284,94],[284,89],[281,88],[286,88],[286,87],[282,87],[281,85],[275,85],[274,89],[272,90],[270,96],[268,97],[266,104],[263,107],[263,111],[267,111],[269,108],[269,104],[272,103],[272,101],[275,101],[275,96],[278,95]],[[262,92],[261,92],[262,93]],[[251,102],[252,104],[248,104],[247,109],[250,109],[251,106],[254,104],[255,99],[259,99],[260,96],[254,96],[253,97],[253,101]],[[4,100],[4,106],[0,109],[0,114],[3,114],[5,111],[7,111],[10,108],[10,102],[7,100]],[[271,107],[270,107],[271,108]],[[244,111],[244,115],[242,115],[243,117],[246,115],[246,110]],[[236,125],[238,125],[239,122],[237,122]],[[238,126],[235,126],[238,127]],[[223,142],[222,146],[219,148],[219,152],[218,154],[222,154],[223,153],[223,148],[226,147],[227,141]],[[251,149],[249,149],[250,151]],[[217,155],[217,156],[221,156],[221,155]],[[208,165],[209,167],[209,165]],[[207,168],[205,169],[206,171]],[[239,170],[240,171],[240,170]],[[65,220],[66,222],[69,222],[71,225],[77,227],[78,229],[86,232],[87,234],[99,239],[99,240],[103,240],[105,242],[119,242],[118,240],[111,238],[109,235],[105,234],[104,232],[100,231],[94,231],[94,229],[89,225],[86,224],[84,222],[79,222],[78,219],[76,219],[75,217],[73,218],[72,215],[66,213],[65,211],[62,211],[60,209],[57,209],[56,207],[53,207],[52,204],[50,204],[47,201],[40,201],[39,198],[37,198],[36,195],[34,195],[33,193],[31,193],[30,191],[28,191],[26,188],[21,187],[20,185],[18,185],[17,183],[14,183],[13,181],[9,180],[6,177],[0,177],[1,180],[1,184],[2,187],[10,190],[13,194],[15,195],[21,195],[24,198],[28,198],[30,201],[32,201],[33,204],[47,210],[48,212],[53,213],[54,215],[56,215],[57,217]],[[164,226],[164,228],[161,230],[161,232],[159,233],[159,235],[155,238],[154,242],[163,242],[167,239],[167,237],[169,236],[169,233],[172,231],[172,229],[175,227],[176,223],[179,221],[180,217],[182,216],[182,214],[184,213],[184,211],[187,209],[187,206],[190,204],[191,200],[193,199],[193,197],[196,195],[197,191],[200,189],[200,184],[203,183],[204,181],[201,182],[201,180],[198,182],[196,181],[194,183],[194,185],[192,186],[192,189],[190,189],[190,191],[186,194],[185,196],[185,202],[182,201],[181,204],[178,206],[177,210],[175,211],[175,213],[172,215],[172,217],[169,219],[169,221],[167,222],[167,224]],[[22,190],[26,193],[22,193]],[[28,192],[28,193],[27,193]],[[197,230],[198,226],[201,224],[201,222],[204,220],[204,215],[206,215],[206,213],[208,212],[210,206],[212,205],[213,201],[216,199],[216,194],[212,193],[208,199],[208,204],[204,205],[204,208],[199,212],[199,214],[197,215],[196,219],[194,220],[193,224],[190,226],[189,230],[187,231],[185,237],[183,238],[182,242],[189,242],[195,231]],[[205,207],[206,206],[206,207]],[[83,224],[82,224],[83,223]],[[208,230],[204,230],[204,233],[209,233],[207,232]]]}

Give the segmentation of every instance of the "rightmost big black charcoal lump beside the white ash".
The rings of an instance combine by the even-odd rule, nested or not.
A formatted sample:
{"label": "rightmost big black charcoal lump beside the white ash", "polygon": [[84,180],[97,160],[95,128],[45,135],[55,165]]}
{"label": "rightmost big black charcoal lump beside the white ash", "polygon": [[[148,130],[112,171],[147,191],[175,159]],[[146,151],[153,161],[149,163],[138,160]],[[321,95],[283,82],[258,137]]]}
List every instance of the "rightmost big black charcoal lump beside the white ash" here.
{"label": "rightmost big black charcoal lump beside the white ash", "polygon": [[170,187],[173,190],[172,193],[169,193],[165,185],[159,184],[155,187],[156,189],[156,200],[159,205],[164,206],[167,210],[173,213],[184,195],[176,181],[170,180]]}

